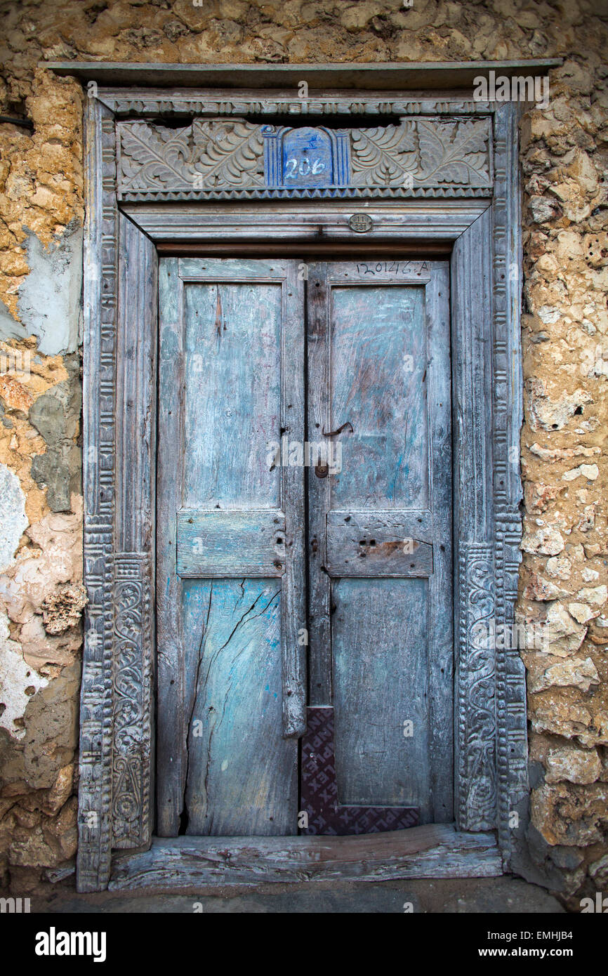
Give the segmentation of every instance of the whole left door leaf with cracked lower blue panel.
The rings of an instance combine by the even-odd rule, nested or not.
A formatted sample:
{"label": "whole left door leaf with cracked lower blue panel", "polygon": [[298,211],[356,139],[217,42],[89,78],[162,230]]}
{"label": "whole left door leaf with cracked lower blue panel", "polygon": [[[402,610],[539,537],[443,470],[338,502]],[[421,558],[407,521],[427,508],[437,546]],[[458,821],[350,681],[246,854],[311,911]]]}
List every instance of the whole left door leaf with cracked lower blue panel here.
{"label": "whole left door leaf with cracked lower blue panel", "polygon": [[282,261],[159,270],[158,833],[295,834],[305,723],[304,291]]}

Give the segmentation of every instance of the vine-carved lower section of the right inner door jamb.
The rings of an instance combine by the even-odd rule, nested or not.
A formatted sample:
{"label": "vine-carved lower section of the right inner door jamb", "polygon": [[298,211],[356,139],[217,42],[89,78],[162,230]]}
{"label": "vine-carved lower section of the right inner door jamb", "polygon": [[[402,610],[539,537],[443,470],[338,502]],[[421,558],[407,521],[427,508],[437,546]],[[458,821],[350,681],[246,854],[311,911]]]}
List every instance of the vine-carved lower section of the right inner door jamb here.
{"label": "vine-carved lower section of the right inner door jamb", "polygon": [[496,826],[494,550],[463,543],[458,630],[459,823],[464,830]]}

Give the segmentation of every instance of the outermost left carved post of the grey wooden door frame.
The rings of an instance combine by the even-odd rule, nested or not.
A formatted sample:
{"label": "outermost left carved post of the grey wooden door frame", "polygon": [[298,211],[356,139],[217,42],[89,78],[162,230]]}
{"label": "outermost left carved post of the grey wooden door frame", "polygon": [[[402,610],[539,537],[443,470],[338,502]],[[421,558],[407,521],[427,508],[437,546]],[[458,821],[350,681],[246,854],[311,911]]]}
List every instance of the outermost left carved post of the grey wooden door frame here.
{"label": "outermost left carved post of the grey wooden door frame", "polygon": [[117,305],[115,136],[97,99],[85,120],[84,252],[85,614],[80,706],[78,890],[106,886],[111,850],[114,386]]}

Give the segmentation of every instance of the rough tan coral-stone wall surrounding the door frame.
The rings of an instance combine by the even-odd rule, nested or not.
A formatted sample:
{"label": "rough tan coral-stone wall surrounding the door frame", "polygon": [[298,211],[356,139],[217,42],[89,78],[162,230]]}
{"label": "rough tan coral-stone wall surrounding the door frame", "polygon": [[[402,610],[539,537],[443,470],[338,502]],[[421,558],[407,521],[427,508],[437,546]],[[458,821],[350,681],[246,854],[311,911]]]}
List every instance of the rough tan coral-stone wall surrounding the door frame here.
{"label": "rough tan coral-stone wall surrounding the door frame", "polygon": [[[562,57],[522,124],[524,558],[533,862],[608,886],[608,11],[605,0],[4,3],[0,125],[0,865],[22,890],[76,845],[82,92],[39,61]],[[27,355],[28,354],[28,355]],[[20,367],[18,369],[17,367]],[[531,868],[531,871],[535,869]],[[541,875],[538,875],[541,876]]]}

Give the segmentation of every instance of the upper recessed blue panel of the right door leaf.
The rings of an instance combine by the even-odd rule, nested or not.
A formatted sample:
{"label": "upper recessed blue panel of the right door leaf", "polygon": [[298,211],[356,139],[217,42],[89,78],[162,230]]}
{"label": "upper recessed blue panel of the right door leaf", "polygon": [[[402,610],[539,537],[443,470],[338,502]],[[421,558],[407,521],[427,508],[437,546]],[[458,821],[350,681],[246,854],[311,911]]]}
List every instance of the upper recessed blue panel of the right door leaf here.
{"label": "upper recessed blue panel of the right door leaf", "polygon": [[332,508],[426,508],[423,302],[411,286],[331,290],[329,429],[352,428]]}

